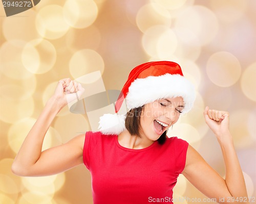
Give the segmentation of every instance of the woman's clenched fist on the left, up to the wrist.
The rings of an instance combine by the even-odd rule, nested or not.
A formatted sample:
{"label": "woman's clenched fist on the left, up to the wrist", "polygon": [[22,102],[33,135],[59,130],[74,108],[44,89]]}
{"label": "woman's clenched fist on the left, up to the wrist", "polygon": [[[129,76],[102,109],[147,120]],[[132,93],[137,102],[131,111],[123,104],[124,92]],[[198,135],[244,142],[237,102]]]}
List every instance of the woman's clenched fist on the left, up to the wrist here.
{"label": "woman's clenched fist on the left, up to the wrist", "polygon": [[67,104],[79,100],[83,92],[84,88],[81,84],[67,78],[58,82],[53,97],[57,99],[61,108],[63,108]]}

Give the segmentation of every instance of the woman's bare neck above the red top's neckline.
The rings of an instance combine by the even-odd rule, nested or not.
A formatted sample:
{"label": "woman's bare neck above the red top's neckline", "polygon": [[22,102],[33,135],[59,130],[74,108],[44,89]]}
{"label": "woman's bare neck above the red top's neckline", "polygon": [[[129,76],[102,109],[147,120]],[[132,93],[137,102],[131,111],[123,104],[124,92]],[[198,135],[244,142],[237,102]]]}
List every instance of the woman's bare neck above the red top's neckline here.
{"label": "woman's bare neck above the red top's neckline", "polygon": [[118,142],[121,146],[130,149],[143,149],[154,143],[154,141],[147,139],[146,137],[138,137],[131,135],[129,131],[125,130],[118,135]]}

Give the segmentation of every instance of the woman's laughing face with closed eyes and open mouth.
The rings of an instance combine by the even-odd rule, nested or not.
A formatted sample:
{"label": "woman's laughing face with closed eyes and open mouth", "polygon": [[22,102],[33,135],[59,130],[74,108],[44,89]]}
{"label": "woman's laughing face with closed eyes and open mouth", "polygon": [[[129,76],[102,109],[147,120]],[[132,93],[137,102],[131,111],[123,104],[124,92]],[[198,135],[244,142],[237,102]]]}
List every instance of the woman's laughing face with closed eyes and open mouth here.
{"label": "woman's laughing face with closed eyes and open mouth", "polygon": [[158,99],[146,104],[140,118],[141,136],[156,141],[177,122],[183,109],[182,97]]}

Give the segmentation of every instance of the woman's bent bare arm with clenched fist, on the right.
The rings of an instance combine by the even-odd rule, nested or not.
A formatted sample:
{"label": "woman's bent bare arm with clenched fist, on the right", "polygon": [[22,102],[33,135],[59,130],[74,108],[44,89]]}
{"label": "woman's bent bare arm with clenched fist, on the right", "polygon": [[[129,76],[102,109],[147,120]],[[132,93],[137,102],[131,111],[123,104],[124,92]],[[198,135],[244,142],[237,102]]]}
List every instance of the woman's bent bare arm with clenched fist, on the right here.
{"label": "woman's bent bare arm with clenched fist, on the right", "polygon": [[204,111],[205,122],[216,135],[225,163],[225,179],[212,169],[191,146],[187,150],[182,174],[210,198],[218,203],[249,203],[243,172],[229,132],[229,114],[226,111]]}

